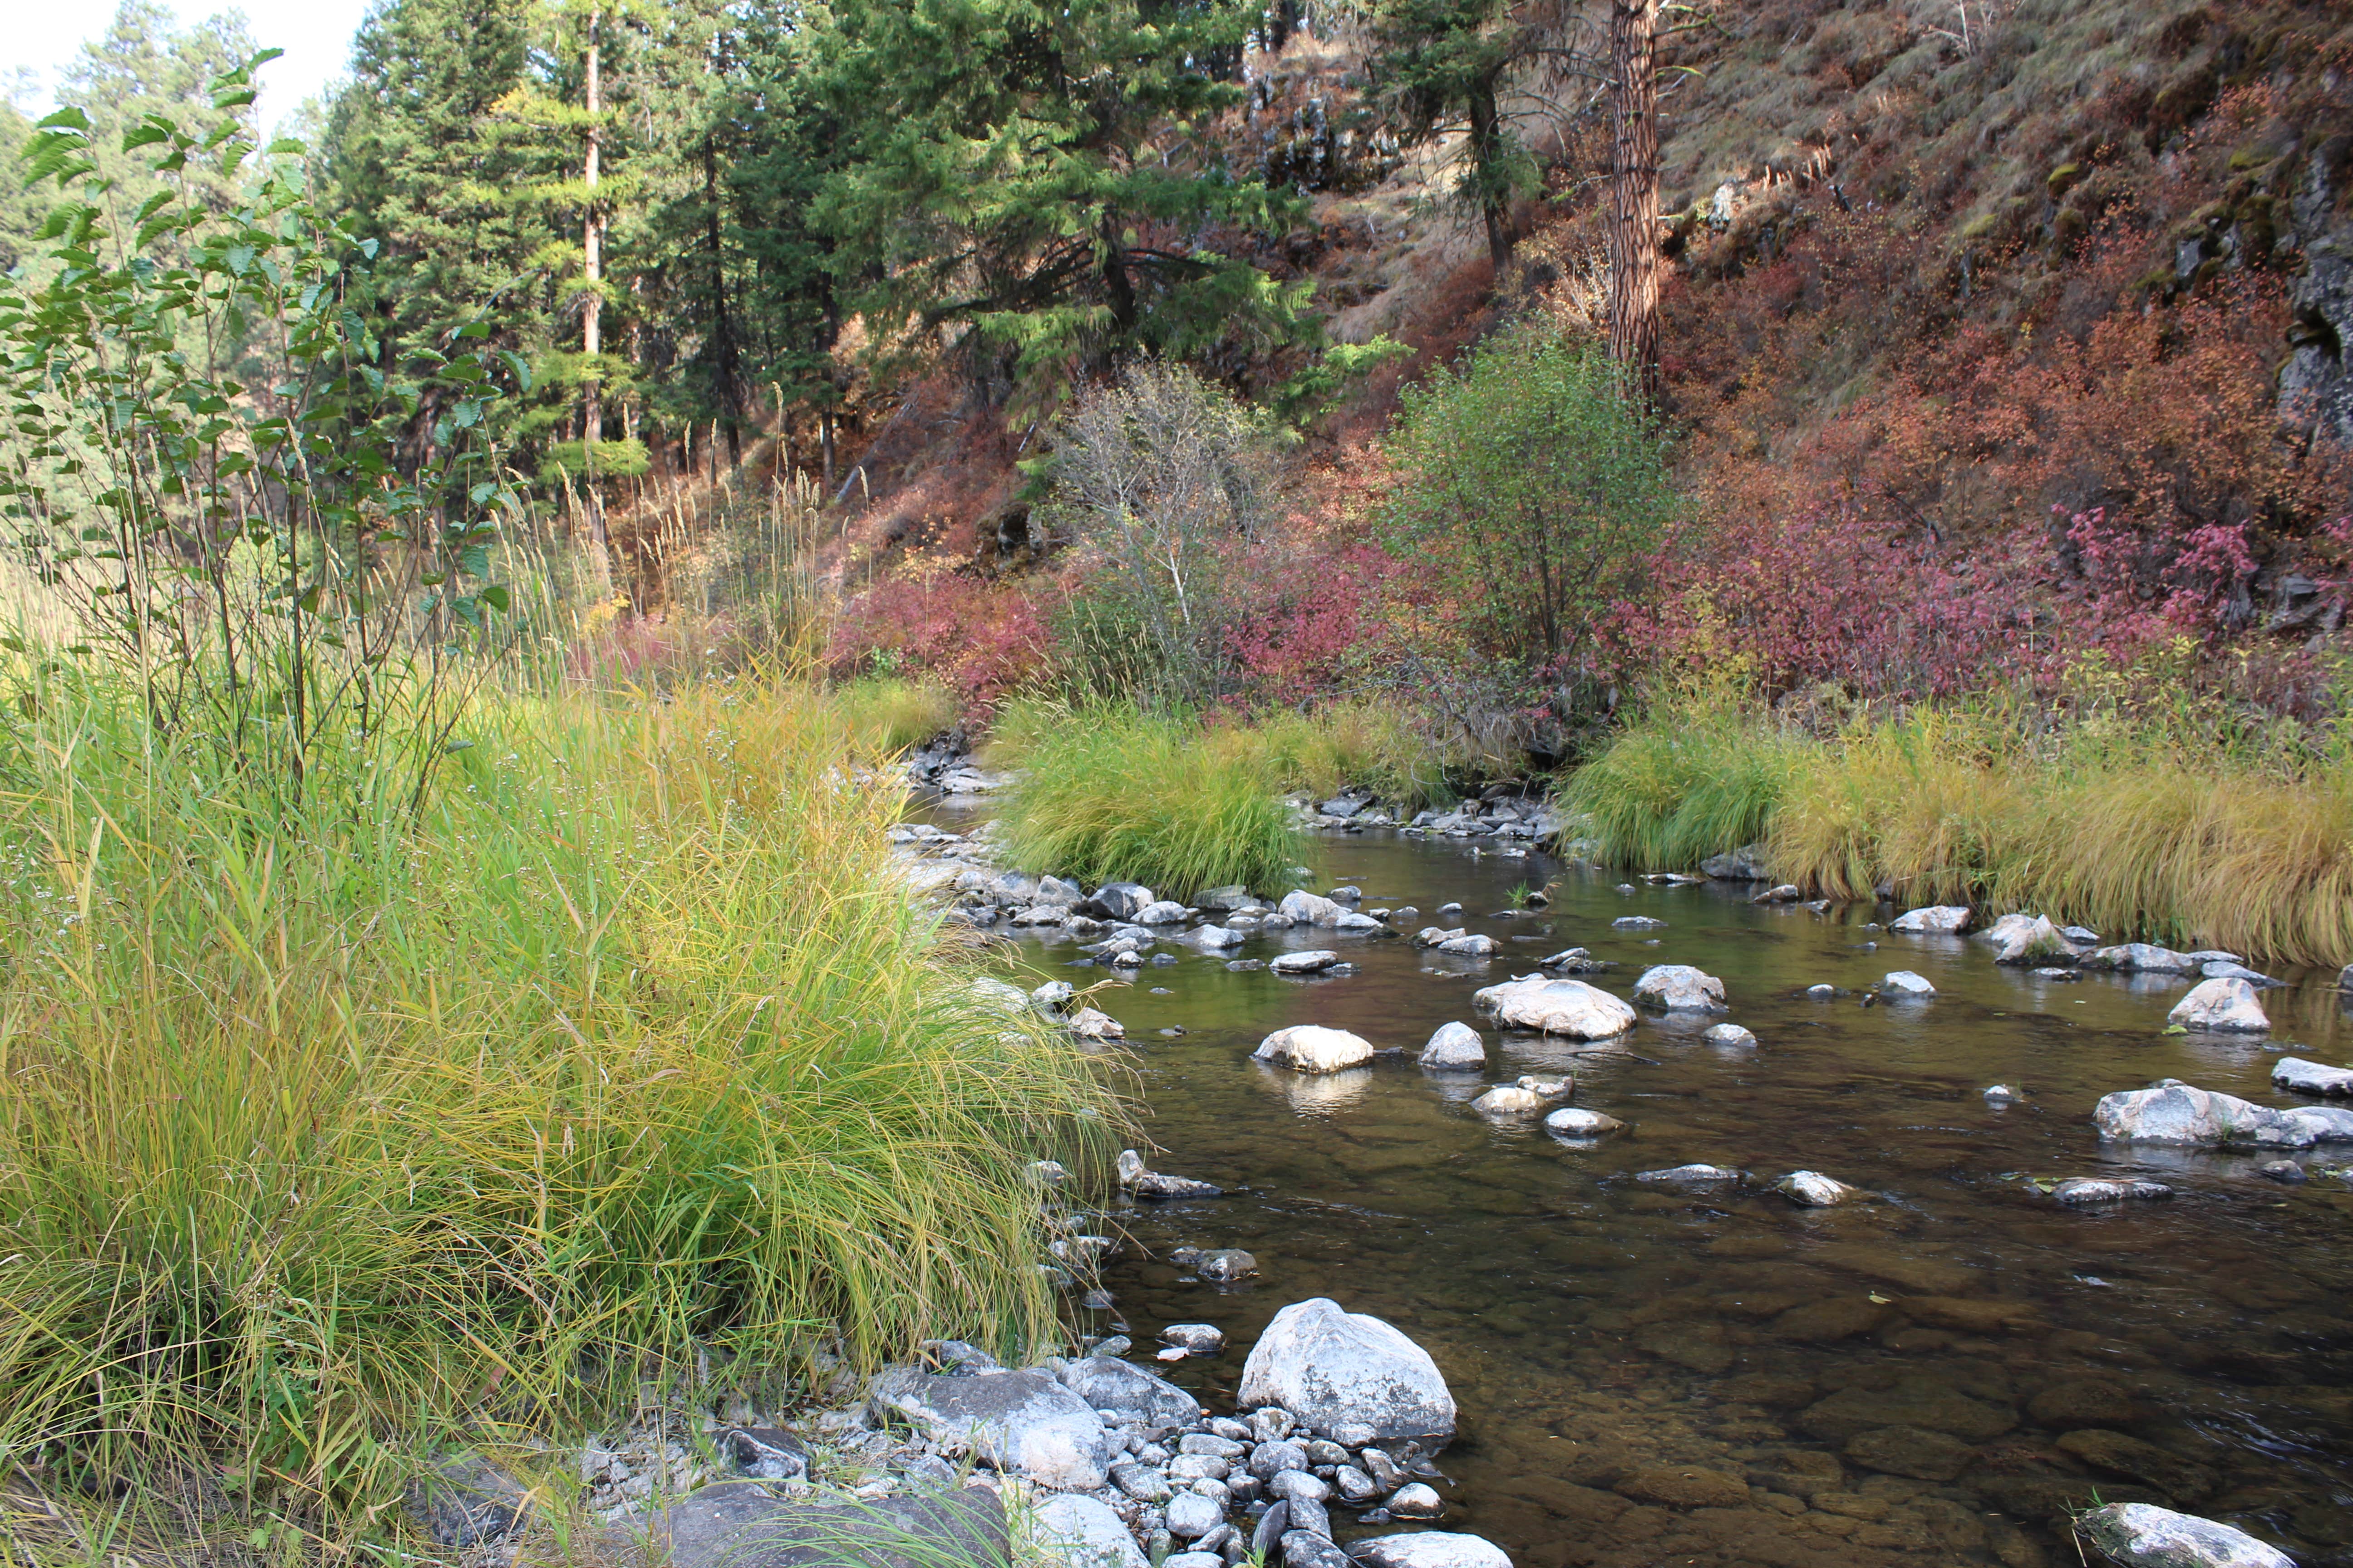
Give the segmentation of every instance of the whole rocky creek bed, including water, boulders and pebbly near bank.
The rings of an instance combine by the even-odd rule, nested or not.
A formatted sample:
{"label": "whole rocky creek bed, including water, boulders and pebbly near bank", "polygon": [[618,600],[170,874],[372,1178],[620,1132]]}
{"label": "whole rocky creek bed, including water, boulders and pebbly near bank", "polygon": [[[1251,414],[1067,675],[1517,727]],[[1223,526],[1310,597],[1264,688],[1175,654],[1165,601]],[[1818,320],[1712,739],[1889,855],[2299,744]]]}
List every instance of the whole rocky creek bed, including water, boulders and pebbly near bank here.
{"label": "whole rocky creek bed, including water, boulders and pebbly near bank", "polygon": [[[1158,1145],[1111,1208],[1038,1171],[1082,1345],[654,1410],[579,1460],[624,1556],[2353,1563],[2339,976],[1621,882],[1508,809],[1329,811],[1322,891],[1188,907],[995,865],[984,792],[911,875]],[[416,1507],[482,1561],[527,1509],[468,1458]]]}

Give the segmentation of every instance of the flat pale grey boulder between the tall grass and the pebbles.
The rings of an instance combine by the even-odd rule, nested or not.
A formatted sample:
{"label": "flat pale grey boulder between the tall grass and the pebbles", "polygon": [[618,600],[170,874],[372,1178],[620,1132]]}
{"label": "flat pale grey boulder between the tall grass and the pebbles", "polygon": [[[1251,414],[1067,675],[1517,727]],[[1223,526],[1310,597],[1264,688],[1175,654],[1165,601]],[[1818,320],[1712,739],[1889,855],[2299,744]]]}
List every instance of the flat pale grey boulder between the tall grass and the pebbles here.
{"label": "flat pale grey boulder between the tall grass and the pebbles", "polygon": [[868,1396],[878,1418],[911,1422],[948,1453],[969,1453],[1071,1490],[1096,1490],[1111,1467],[1111,1436],[1085,1399],[1047,1373],[991,1371],[955,1378],[894,1366]]}

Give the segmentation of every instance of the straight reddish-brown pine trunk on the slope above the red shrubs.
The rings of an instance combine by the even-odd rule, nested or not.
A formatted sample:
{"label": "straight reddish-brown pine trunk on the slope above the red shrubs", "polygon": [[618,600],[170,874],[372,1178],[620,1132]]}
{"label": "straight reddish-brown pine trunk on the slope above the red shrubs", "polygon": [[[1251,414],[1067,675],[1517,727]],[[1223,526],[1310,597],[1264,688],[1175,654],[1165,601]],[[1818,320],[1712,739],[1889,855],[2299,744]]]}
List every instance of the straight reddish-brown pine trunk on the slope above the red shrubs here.
{"label": "straight reddish-brown pine trunk on the slope above the red shrubs", "polygon": [[1609,357],[1659,400],[1659,0],[1609,0]]}

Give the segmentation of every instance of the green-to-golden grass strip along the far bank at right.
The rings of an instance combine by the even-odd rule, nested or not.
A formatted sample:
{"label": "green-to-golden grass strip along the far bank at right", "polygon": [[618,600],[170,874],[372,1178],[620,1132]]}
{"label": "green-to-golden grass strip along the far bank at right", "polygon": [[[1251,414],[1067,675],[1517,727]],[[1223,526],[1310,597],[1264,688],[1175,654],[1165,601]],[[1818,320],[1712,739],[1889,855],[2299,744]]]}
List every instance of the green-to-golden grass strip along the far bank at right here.
{"label": "green-to-golden grass strip along the far bank at right", "polygon": [[1664,703],[1579,769],[1565,804],[1602,858],[1689,870],[1762,839],[1833,898],[2031,907],[2111,940],[2353,959],[2353,764],[2169,724],[2021,726],[1920,710],[1814,738]]}

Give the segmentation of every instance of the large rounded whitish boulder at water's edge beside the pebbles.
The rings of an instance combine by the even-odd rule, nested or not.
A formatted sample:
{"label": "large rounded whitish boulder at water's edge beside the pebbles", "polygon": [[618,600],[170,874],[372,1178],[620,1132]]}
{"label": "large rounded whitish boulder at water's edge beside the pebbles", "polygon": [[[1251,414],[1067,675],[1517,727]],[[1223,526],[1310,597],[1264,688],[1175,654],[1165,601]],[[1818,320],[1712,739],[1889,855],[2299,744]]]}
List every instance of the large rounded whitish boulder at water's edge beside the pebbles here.
{"label": "large rounded whitish boulder at water's edge beside the pebbles", "polygon": [[1325,1436],[1351,1422],[1374,1439],[1454,1432],[1454,1396],[1431,1354],[1322,1295],[1275,1314],[1249,1347],[1235,1403],[1282,1406]]}

